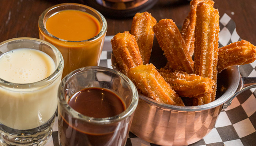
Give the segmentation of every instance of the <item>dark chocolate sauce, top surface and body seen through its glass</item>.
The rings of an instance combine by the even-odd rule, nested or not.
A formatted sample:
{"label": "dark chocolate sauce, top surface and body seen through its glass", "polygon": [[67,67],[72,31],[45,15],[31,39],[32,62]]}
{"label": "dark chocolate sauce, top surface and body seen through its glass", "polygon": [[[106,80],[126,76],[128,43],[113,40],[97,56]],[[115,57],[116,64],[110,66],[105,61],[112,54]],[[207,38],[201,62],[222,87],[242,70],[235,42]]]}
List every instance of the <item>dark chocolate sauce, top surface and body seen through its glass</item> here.
{"label": "dark chocolate sauce, top surface and body seen through its glass", "polygon": [[[68,100],[68,104],[80,114],[94,118],[115,116],[125,110],[120,97],[103,88],[82,89]],[[118,145],[117,135],[124,131],[122,128],[118,129],[117,124],[91,124],[68,114],[61,115],[61,118],[63,122],[59,122],[59,132],[63,146],[115,146]]]}

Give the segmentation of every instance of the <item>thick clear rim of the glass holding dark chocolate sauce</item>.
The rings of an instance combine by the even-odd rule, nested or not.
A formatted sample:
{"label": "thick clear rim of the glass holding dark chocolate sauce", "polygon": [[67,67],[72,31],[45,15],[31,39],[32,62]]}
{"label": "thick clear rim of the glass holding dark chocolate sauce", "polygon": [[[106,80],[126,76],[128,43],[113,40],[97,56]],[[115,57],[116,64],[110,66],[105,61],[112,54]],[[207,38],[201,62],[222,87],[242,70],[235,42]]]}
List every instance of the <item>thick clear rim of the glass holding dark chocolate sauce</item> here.
{"label": "thick clear rim of the glass holding dark chocolate sauce", "polygon": [[[108,118],[93,118],[93,117],[89,117],[89,116],[80,114],[79,112],[75,111],[73,108],[71,108],[68,105],[68,103],[65,100],[65,90],[64,90],[64,86],[65,86],[66,82],[69,80],[69,78],[71,78],[75,74],[84,72],[86,70],[102,70],[102,71],[111,72],[111,73],[114,73],[114,74],[120,76],[124,81],[126,81],[128,83],[128,85],[131,87],[131,90],[132,90],[132,100],[131,100],[131,104],[126,108],[125,111],[121,112],[120,114],[118,114],[116,116],[112,116],[112,117],[108,117]],[[102,66],[87,66],[84,68],[76,69],[73,72],[67,74],[63,78],[63,80],[61,81],[60,86],[59,86],[58,100],[59,100],[59,104],[63,108],[63,110],[65,110],[68,114],[72,115],[73,118],[83,120],[85,122],[94,123],[94,124],[109,124],[109,123],[121,121],[121,120],[125,119],[126,117],[132,115],[138,105],[139,95],[138,95],[138,91],[137,91],[135,85],[133,84],[133,82],[124,74],[117,72],[116,70],[102,67]]]}

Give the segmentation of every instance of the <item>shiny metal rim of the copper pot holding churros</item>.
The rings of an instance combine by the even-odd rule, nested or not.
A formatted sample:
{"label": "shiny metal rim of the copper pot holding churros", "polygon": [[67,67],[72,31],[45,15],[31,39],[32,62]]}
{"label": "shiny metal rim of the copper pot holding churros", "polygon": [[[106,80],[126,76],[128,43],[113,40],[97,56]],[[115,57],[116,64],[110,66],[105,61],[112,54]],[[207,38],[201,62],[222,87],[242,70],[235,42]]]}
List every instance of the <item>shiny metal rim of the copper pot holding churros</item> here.
{"label": "shiny metal rim of the copper pot holding churros", "polygon": [[222,96],[218,97],[218,99],[216,99],[215,101],[212,101],[211,103],[208,104],[204,104],[204,105],[197,105],[197,106],[186,106],[186,107],[181,107],[181,106],[176,106],[176,105],[169,105],[169,104],[165,104],[165,103],[160,103],[158,101],[155,101],[153,99],[150,99],[142,94],[139,94],[139,99],[155,105],[157,107],[160,108],[165,108],[165,109],[169,109],[169,110],[176,110],[176,111],[203,111],[203,110],[208,110],[211,108],[215,108],[218,107],[219,105],[224,104],[227,100],[229,100],[237,91],[237,87],[239,85],[240,82],[240,73],[238,70],[238,66],[231,66],[230,68],[228,68],[227,70],[229,70],[229,78],[231,78],[230,80],[230,84],[229,87],[226,89],[226,91],[223,93]]}

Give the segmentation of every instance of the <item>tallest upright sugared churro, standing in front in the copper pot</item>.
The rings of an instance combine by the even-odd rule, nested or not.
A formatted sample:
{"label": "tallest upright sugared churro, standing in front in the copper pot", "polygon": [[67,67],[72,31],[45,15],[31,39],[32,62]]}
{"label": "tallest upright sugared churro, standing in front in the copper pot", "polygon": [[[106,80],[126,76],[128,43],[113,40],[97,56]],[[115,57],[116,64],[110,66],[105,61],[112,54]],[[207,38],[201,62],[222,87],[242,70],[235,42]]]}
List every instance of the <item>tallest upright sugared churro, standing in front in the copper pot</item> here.
{"label": "tallest upright sugared churro, standing in front in the copper pot", "polygon": [[217,89],[219,12],[213,8],[213,3],[211,0],[203,1],[196,10],[195,74],[215,81],[213,92],[198,97],[197,105],[214,101]]}

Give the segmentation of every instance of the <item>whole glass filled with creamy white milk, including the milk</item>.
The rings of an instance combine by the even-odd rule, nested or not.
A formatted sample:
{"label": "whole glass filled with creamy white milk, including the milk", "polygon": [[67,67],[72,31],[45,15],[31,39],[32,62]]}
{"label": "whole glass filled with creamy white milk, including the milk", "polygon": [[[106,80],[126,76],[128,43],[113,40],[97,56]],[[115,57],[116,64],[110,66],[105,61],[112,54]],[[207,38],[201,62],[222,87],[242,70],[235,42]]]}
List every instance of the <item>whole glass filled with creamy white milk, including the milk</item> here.
{"label": "whole glass filled with creamy white milk, including the milk", "polygon": [[44,145],[52,135],[64,62],[34,38],[0,43],[0,145]]}

